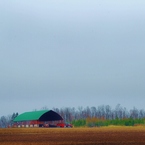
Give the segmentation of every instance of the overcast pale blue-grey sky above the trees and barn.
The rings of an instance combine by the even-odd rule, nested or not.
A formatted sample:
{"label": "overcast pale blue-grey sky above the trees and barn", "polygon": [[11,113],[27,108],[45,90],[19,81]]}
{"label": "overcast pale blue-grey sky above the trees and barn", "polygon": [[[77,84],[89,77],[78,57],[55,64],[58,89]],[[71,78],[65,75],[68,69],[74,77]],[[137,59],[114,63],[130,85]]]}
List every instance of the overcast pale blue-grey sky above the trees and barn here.
{"label": "overcast pale blue-grey sky above the trees and barn", "polygon": [[0,0],[0,116],[117,104],[145,109],[144,0]]}

